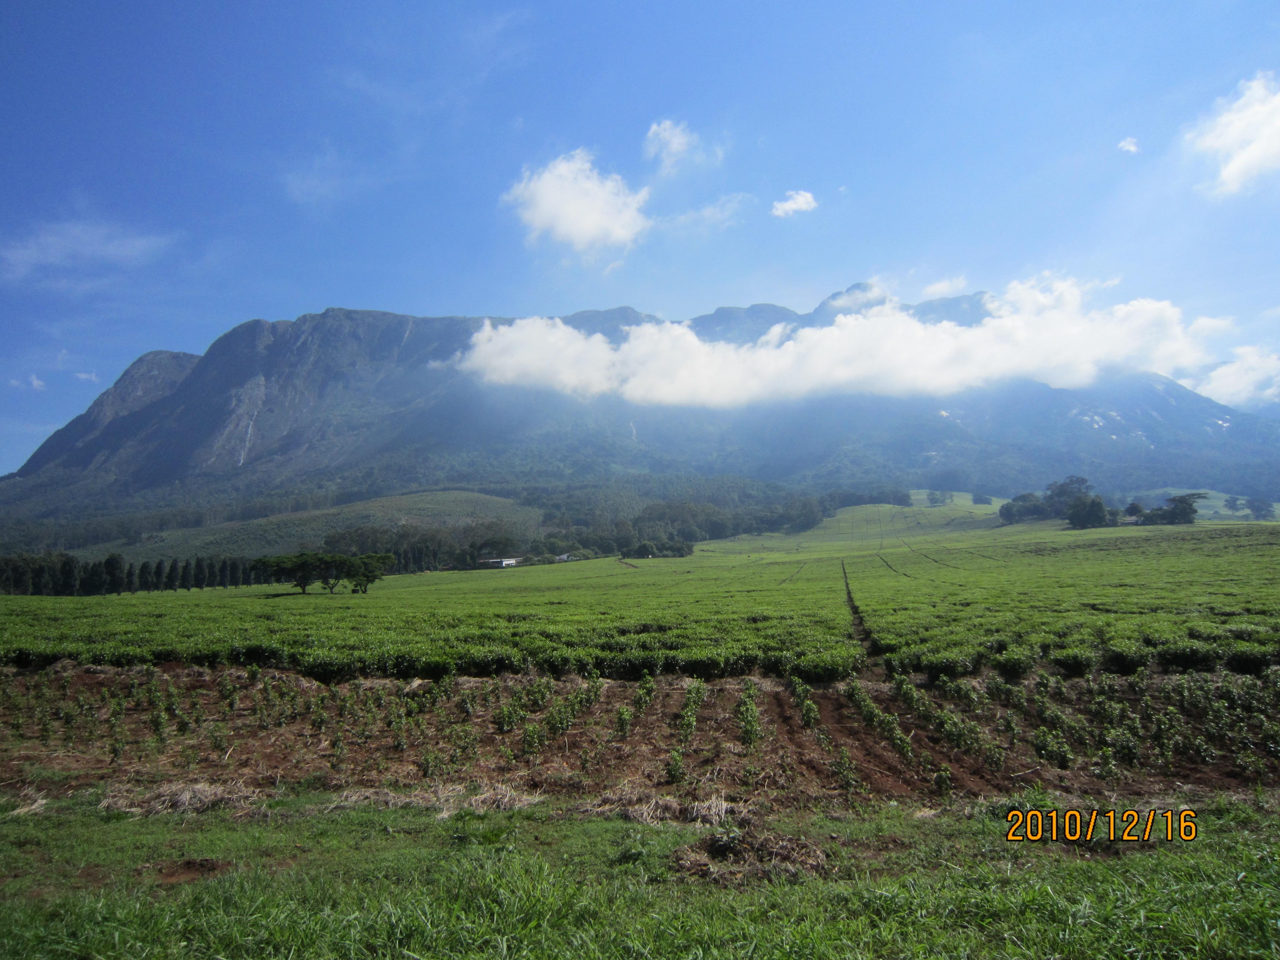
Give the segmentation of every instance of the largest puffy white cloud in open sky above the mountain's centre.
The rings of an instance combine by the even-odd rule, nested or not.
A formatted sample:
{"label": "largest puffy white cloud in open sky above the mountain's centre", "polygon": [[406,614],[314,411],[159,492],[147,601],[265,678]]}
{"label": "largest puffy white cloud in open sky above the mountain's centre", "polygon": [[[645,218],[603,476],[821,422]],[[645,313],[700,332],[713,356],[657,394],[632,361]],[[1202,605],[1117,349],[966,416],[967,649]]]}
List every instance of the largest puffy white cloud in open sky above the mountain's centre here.
{"label": "largest puffy white cloud in open sky above the mountain's centre", "polygon": [[579,148],[540,170],[525,170],[503,200],[513,204],[529,228],[529,239],[543,233],[585,252],[628,247],[650,220],[640,209],[649,188],[632,192],[618,174],[602,177],[593,156]]}

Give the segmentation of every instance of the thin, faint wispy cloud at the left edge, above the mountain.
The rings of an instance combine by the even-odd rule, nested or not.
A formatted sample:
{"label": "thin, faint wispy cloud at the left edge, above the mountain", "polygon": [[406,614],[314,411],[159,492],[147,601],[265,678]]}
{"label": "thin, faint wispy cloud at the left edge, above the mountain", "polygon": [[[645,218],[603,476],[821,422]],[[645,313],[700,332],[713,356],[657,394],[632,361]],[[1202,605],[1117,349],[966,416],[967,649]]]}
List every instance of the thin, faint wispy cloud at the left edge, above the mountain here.
{"label": "thin, faint wispy cloud at the left edge, above the mountain", "polygon": [[143,266],[172,242],[173,237],[96,220],[42,224],[28,237],[0,246],[0,278],[17,282],[47,270]]}

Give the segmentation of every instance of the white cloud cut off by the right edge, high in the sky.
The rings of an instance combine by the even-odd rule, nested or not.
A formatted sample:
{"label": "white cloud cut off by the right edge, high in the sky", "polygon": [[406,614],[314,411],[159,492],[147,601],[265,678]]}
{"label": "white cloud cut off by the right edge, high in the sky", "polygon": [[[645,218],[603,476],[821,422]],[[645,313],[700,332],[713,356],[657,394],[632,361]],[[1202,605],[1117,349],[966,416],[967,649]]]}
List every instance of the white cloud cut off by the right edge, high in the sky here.
{"label": "white cloud cut off by the right edge, high in the sky", "polygon": [[1213,116],[1188,137],[1192,147],[1219,160],[1217,189],[1238,193],[1280,169],[1280,87],[1270,73],[1243,81],[1235,100],[1221,100]]}

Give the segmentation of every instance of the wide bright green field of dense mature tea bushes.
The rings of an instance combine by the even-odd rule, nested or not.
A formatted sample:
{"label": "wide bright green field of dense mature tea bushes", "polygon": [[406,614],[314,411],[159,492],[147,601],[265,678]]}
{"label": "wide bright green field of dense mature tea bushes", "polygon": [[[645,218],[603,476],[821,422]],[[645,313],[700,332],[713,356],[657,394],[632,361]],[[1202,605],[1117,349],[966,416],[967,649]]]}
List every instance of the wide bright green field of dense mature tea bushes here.
{"label": "wide bright green field of dense mature tea bushes", "polygon": [[818,682],[856,672],[865,639],[887,672],[931,678],[1257,673],[1280,640],[1277,547],[1274,524],[1069,531],[1002,527],[992,507],[852,507],[799,536],[714,541],[684,559],[420,573],[369,595],[5,596],[0,659],[260,663],[325,681],[532,666]]}

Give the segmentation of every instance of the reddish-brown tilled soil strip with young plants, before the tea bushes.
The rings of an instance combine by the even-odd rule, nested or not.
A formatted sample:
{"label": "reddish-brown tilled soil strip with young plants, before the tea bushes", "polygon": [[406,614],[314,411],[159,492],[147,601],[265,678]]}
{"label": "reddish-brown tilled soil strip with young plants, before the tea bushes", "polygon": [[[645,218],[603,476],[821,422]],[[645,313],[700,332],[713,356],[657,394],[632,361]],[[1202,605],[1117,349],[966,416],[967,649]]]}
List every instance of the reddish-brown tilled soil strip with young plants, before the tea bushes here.
{"label": "reddish-brown tilled soil strip with young plants, before the tea bushes", "polygon": [[[904,710],[876,672],[858,682],[896,717],[910,759],[863,721],[842,685],[808,692],[817,721],[810,716],[805,726],[792,690],[773,677],[751,678],[763,730],[751,746],[741,742],[735,713],[742,677],[707,684],[691,735],[687,724],[681,731],[680,717],[687,689],[698,681],[684,677],[659,677],[648,705],[636,703],[635,682],[524,675],[325,686],[273,669],[61,662],[40,673],[10,669],[0,681],[0,781],[10,791],[169,781],[273,788],[428,783],[581,797],[618,790],[686,800],[718,796],[780,810],[873,796],[996,796],[1033,782],[1080,795],[1121,790],[1128,796],[1245,785],[1229,760],[1178,758],[1161,772],[1133,769],[1106,778],[1087,760],[1056,769],[1037,758],[1027,737],[1010,742],[997,728],[1000,710],[988,705],[968,716],[1005,746],[1002,765],[991,769],[989,762],[950,748],[937,730]],[[512,704],[524,704],[515,723]],[[576,713],[559,730],[570,707]],[[625,735],[620,708],[634,713]],[[681,764],[673,771],[676,753]]]}

